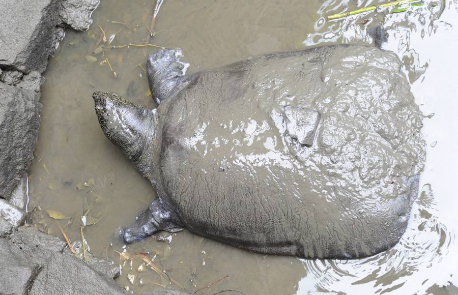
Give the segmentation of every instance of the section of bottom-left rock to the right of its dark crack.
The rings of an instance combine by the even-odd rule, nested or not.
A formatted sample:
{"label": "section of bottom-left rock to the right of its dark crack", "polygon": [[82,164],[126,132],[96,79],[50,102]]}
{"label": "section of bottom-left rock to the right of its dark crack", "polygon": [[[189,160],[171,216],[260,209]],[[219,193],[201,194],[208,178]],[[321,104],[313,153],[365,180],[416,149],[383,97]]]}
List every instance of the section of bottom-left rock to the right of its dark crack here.
{"label": "section of bottom-left rock to the right of its dark crack", "polygon": [[123,294],[121,287],[71,255],[53,253],[30,294]]}

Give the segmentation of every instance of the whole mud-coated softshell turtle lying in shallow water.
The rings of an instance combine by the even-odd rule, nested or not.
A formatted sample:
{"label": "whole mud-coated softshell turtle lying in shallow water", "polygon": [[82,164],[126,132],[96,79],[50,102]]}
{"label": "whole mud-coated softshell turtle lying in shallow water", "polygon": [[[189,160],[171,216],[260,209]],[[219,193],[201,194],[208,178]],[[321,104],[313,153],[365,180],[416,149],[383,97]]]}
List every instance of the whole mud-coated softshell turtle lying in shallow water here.
{"label": "whole mud-coated softshell turtle lying in shallow water", "polygon": [[356,258],[404,233],[425,157],[401,62],[366,46],[275,53],[182,74],[148,57],[147,109],[95,92],[105,135],[157,191],[121,234],[188,230],[254,252]]}

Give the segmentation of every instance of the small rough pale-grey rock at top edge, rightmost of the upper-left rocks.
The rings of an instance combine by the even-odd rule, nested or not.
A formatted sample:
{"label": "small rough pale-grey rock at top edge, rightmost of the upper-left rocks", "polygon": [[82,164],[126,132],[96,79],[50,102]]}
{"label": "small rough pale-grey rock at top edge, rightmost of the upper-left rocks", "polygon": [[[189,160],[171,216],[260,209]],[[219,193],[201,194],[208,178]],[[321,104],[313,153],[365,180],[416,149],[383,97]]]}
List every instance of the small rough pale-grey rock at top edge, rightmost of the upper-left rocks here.
{"label": "small rough pale-grey rock at top edge, rightmost of the upper-left rocks", "polygon": [[59,15],[73,30],[85,31],[92,24],[91,14],[99,3],[100,0],[64,0]]}

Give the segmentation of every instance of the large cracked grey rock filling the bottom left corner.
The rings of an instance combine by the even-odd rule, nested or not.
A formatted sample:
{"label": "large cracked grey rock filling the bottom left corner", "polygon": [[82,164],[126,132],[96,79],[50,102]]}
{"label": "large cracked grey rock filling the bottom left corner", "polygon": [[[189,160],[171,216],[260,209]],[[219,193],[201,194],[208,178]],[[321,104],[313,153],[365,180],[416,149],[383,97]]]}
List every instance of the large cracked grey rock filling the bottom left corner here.
{"label": "large cracked grey rock filling the bottom left corner", "polygon": [[0,294],[123,293],[111,278],[63,251],[65,247],[33,227],[19,227],[0,238]]}

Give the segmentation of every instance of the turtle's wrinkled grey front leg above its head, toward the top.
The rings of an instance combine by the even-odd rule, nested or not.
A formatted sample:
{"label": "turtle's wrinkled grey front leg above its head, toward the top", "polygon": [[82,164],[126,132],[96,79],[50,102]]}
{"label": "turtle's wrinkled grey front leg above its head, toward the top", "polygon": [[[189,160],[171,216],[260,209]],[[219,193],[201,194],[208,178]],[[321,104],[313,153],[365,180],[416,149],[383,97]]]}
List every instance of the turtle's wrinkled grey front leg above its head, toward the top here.
{"label": "turtle's wrinkled grey front leg above its head, toward the top", "polygon": [[151,95],[160,104],[172,95],[173,89],[183,82],[184,64],[174,49],[160,49],[148,55],[147,73]]}

